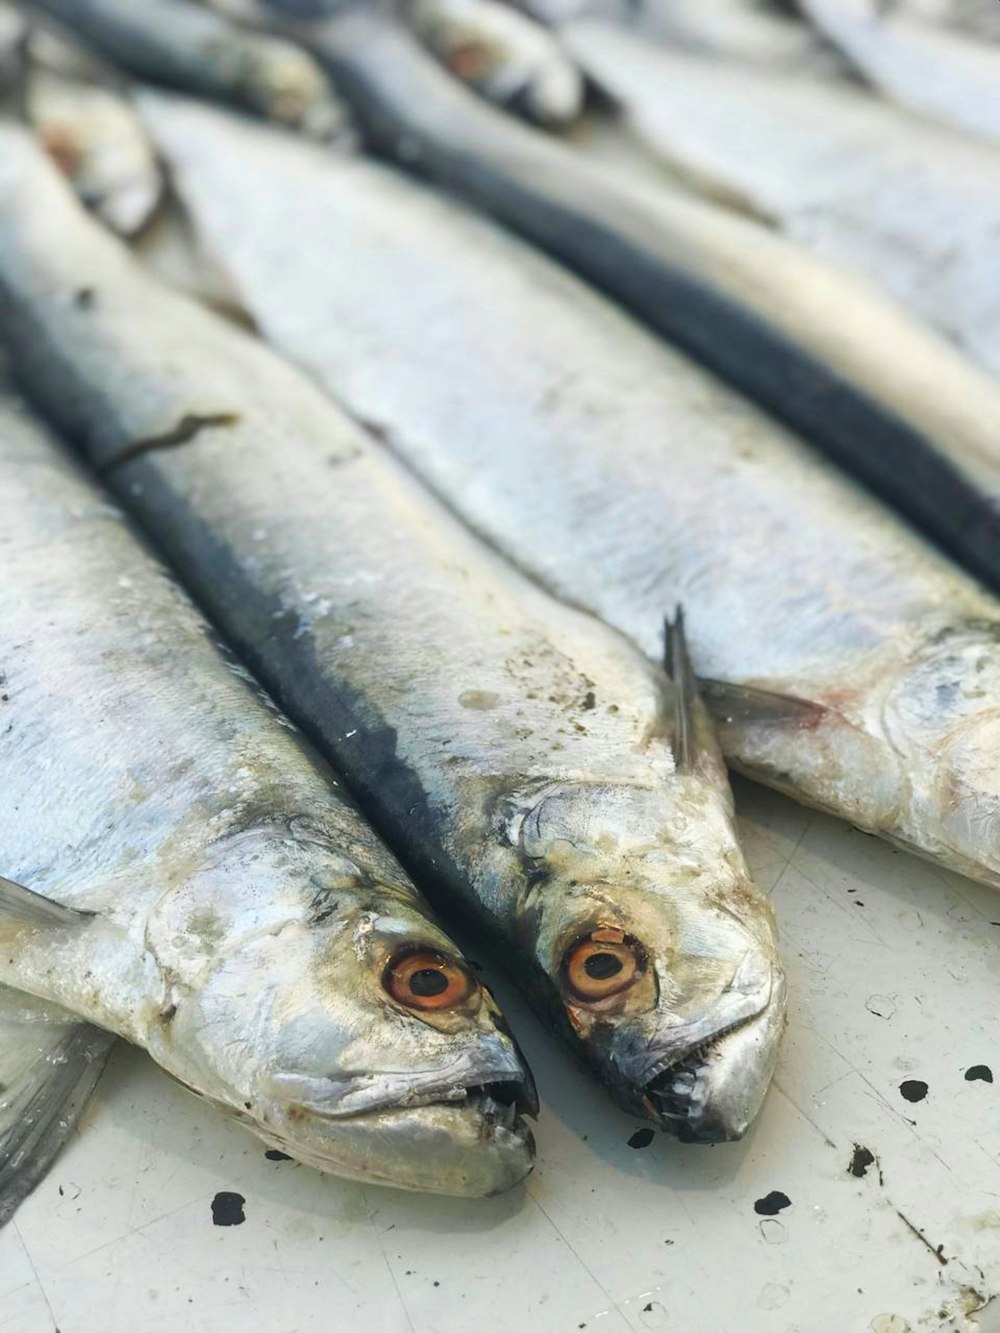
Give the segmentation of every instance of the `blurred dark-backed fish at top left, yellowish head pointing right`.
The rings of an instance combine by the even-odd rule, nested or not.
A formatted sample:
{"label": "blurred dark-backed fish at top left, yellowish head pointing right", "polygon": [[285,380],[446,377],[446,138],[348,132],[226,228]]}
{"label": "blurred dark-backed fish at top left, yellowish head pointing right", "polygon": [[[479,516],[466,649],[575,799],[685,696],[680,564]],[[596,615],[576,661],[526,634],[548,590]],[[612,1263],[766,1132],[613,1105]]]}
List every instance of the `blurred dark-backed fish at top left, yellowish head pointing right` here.
{"label": "blurred dark-backed fish at top left, yellowish head pointing right", "polygon": [[232,103],[317,139],[345,128],[344,107],[293,43],[249,32],[193,0],[35,0],[137,79]]}

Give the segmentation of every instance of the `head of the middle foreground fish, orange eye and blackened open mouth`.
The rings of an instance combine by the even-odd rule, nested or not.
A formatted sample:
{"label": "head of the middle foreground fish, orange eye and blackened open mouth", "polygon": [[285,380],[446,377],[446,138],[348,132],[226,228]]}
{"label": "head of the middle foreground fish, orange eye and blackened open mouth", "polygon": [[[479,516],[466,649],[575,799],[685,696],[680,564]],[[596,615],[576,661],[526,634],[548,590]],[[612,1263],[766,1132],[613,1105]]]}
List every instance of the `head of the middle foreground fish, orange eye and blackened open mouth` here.
{"label": "head of the middle foreground fish, orange eye and blackened open mouth", "polygon": [[616,1100],[687,1141],[740,1138],[784,1030],[773,912],[724,796],[559,788],[519,828],[523,942]]}

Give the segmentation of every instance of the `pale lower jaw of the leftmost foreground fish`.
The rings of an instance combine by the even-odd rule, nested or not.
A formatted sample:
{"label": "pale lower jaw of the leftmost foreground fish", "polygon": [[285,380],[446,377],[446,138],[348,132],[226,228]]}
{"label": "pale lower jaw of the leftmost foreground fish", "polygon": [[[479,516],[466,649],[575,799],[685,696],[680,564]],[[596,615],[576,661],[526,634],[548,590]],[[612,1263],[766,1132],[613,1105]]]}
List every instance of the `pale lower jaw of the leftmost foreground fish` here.
{"label": "pale lower jaw of the leftmost foreground fish", "polygon": [[509,1084],[464,1089],[460,1101],[327,1118],[275,1108],[240,1116],[265,1142],[347,1180],[465,1198],[501,1194],[535,1165],[535,1138]]}

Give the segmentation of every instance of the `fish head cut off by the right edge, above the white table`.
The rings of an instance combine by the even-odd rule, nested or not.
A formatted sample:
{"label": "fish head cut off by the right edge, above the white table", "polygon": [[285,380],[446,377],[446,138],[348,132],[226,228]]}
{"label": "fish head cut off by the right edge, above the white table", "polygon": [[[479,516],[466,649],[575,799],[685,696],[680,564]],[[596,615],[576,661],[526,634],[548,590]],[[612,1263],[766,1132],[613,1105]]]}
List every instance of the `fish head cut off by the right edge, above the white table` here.
{"label": "fish head cut off by the right edge, above the white table", "polygon": [[1000,623],[965,620],[911,663],[883,708],[907,758],[896,841],[1000,888]]}

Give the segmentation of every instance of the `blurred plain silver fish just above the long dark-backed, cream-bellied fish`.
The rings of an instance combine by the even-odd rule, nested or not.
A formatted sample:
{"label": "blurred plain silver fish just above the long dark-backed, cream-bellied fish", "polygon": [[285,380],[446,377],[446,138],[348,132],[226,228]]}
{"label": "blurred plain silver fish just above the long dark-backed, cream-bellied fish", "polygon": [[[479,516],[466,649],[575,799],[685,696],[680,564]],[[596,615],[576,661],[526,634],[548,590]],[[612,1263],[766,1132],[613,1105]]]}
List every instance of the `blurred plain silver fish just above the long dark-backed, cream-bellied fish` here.
{"label": "blurred plain silver fish just above the long dark-backed, cream-bellied fish", "polygon": [[563,29],[647,147],[867,275],[1000,371],[1000,159],[849,84],[720,67],[604,24]]}

